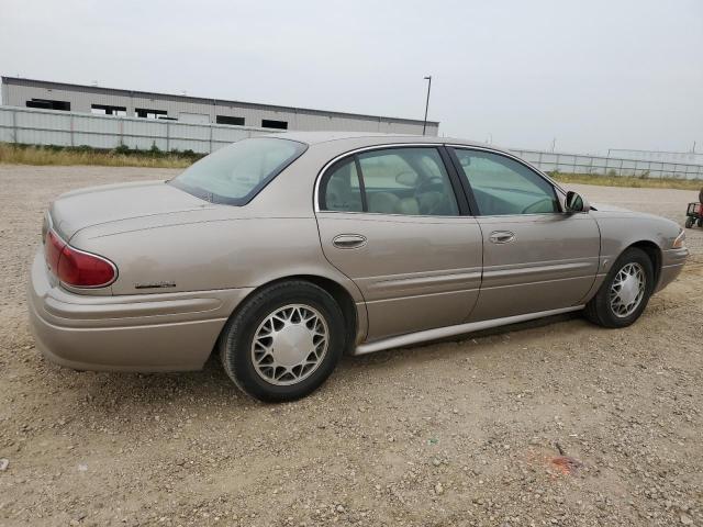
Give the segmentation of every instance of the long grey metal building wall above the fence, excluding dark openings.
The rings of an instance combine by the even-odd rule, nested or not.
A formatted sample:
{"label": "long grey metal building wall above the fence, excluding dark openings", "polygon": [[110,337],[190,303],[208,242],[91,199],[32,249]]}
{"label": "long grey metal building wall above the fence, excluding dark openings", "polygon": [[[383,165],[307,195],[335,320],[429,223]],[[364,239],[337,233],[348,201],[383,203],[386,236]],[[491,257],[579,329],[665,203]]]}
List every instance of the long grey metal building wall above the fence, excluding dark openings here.
{"label": "long grey metal building wall above the fence, excluding dark openings", "polygon": [[[321,110],[295,109],[254,104],[237,101],[210,100],[188,96],[145,93],[129,90],[115,90],[102,87],[62,85],[31,79],[3,78],[3,104],[24,108],[26,101],[45,99],[70,103],[71,112],[91,113],[92,104],[123,106],[127,116],[136,116],[136,109],[160,110],[170,119],[180,119],[181,113],[202,115],[210,123],[217,115],[244,117],[246,126],[260,127],[263,120],[284,121],[288,130],[298,131],[342,131],[342,132],[382,132],[395,134],[422,134],[423,123],[417,120],[391,119]],[[428,122],[426,135],[436,136],[439,124]]]}

